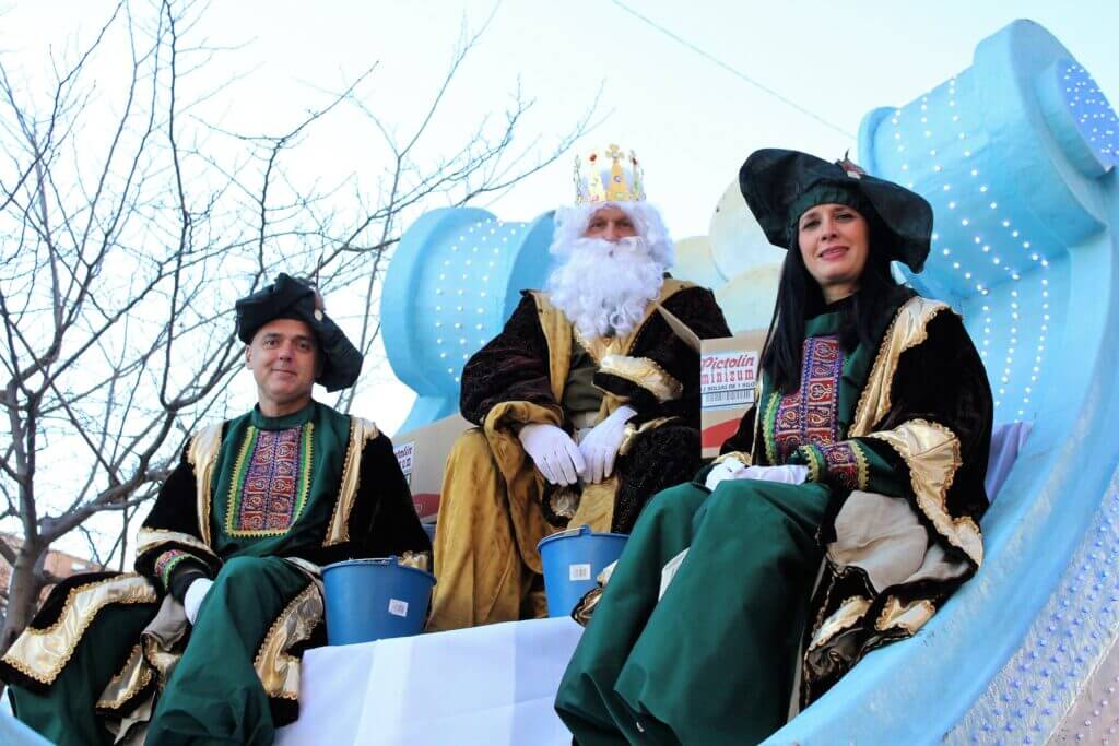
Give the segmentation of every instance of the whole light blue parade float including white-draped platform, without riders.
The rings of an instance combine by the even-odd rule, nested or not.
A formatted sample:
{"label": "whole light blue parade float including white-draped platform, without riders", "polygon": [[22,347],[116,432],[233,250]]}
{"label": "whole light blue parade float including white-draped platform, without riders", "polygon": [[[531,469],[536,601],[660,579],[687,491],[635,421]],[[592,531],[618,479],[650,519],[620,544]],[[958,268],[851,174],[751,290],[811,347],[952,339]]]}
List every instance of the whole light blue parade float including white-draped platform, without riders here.
{"label": "whole light blue parade float including white-draped platform, without riders", "polygon": [[[904,280],[963,317],[987,367],[984,559],[912,640],[871,653],[767,743],[1115,739],[1116,113],[1071,53],[1017,21],[982,40],[969,68],[866,114],[855,160],[932,204],[932,255]],[[422,433],[463,426],[462,366],[519,291],[543,284],[551,236],[551,215],[516,223],[477,208],[431,211],[403,236],[380,318],[393,370],[417,395],[395,438],[414,491],[424,476],[438,484],[420,472],[441,460],[421,453]],[[736,185],[708,236],[677,252],[676,276],[715,290],[732,329],[768,323],[781,253]],[[426,497],[433,514],[438,494]],[[327,726],[338,743],[570,743],[552,699],[580,632],[552,618],[308,651],[301,718],[279,743],[328,743]]]}

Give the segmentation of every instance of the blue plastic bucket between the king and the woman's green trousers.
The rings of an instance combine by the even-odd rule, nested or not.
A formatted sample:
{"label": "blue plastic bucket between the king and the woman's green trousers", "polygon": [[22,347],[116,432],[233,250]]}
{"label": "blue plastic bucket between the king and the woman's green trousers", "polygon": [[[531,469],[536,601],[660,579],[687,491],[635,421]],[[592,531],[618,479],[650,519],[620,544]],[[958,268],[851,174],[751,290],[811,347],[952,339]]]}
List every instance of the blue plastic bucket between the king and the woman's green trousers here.
{"label": "blue plastic bucket between the king and the woman's green trousers", "polygon": [[536,548],[544,564],[548,616],[567,616],[595,586],[595,578],[617,560],[629,539],[624,533],[596,533],[587,526],[553,533]]}

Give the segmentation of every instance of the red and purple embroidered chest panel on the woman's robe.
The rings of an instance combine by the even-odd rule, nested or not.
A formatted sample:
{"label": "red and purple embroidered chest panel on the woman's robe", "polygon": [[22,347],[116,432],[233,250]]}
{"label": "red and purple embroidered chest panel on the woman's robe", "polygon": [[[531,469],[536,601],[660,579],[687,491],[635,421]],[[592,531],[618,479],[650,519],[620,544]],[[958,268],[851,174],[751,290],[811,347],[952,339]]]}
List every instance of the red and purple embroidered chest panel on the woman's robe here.
{"label": "red and purple embroidered chest panel on the woman's robe", "polygon": [[829,445],[838,440],[839,377],[843,350],[836,336],[805,340],[800,388],[767,403],[765,446],[771,463],[783,464],[802,445]]}

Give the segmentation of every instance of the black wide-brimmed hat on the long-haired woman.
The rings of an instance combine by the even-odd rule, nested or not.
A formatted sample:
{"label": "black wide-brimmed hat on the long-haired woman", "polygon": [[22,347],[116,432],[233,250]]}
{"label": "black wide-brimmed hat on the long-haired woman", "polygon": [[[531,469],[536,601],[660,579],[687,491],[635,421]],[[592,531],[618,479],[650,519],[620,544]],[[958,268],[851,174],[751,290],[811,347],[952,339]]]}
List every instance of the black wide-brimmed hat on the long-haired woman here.
{"label": "black wide-brimmed hat on the long-haired woman", "polygon": [[774,246],[796,245],[797,220],[806,210],[838,204],[857,209],[874,229],[886,233],[890,245],[883,248],[891,259],[920,272],[929,256],[932,206],[921,195],[868,176],[846,159],[829,163],[796,150],[755,150],[739,171],[739,187]]}

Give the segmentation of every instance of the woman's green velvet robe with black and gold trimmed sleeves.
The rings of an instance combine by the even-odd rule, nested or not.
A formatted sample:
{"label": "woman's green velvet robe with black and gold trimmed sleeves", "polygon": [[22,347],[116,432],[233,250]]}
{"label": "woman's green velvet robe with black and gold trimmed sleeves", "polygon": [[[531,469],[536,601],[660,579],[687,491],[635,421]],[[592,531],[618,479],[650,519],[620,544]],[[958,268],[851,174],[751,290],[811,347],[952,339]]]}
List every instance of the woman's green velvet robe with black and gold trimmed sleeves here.
{"label": "woman's green velvet robe with black and gold trimmed sleeves", "polygon": [[836,314],[810,320],[799,390],[762,381],[724,446],[803,464],[808,482],[708,491],[705,470],[650,501],[560,687],[576,743],[763,740],[798,678],[811,701],[978,568],[991,426],[979,356],[943,304],[914,298],[884,322],[876,350],[844,351]]}

